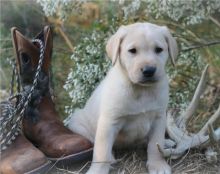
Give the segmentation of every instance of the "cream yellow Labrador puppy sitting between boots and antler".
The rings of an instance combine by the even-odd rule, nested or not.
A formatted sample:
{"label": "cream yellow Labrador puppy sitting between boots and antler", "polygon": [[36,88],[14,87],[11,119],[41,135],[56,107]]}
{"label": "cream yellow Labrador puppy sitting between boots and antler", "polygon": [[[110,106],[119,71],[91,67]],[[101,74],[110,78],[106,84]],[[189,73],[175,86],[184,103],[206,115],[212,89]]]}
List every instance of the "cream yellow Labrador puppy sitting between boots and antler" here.
{"label": "cream yellow Labrador puppy sitting between boots and antler", "polygon": [[169,91],[165,64],[177,56],[175,39],[167,27],[135,23],[120,27],[106,51],[112,68],[68,125],[94,142],[87,174],[107,174],[113,145],[136,142],[148,146],[150,174],[170,174],[156,144],[164,145]]}

